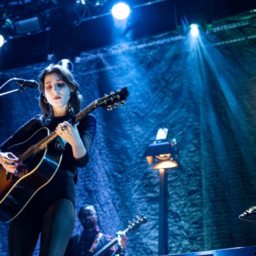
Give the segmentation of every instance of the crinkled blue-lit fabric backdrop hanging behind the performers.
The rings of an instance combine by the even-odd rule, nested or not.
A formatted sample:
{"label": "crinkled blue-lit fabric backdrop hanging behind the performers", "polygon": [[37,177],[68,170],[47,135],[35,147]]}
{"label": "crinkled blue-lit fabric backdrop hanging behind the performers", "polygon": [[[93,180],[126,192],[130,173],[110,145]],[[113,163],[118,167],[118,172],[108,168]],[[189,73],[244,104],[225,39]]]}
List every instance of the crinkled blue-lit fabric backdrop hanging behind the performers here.
{"label": "crinkled blue-lit fabric backdrop hanging behind the performers", "polygon": [[[102,232],[115,236],[129,219],[147,216],[129,234],[127,256],[158,254],[159,173],[143,154],[162,126],[180,149],[180,165],[168,175],[169,253],[256,244],[255,224],[238,218],[256,204],[255,38],[255,23],[198,40],[168,33],[84,52],[76,63],[84,106],[118,88],[130,91],[125,106],[94,111],[97,133],[76,184],[76,212],[94,204]],[[48,64],[1,72],[1,84],[37,79]],[[40,112],[37,96],[28,88],[1,97],[1,141]],[[76,218],[73,234],[80,230]],[[1,223],[1,256],[7,234]]]}

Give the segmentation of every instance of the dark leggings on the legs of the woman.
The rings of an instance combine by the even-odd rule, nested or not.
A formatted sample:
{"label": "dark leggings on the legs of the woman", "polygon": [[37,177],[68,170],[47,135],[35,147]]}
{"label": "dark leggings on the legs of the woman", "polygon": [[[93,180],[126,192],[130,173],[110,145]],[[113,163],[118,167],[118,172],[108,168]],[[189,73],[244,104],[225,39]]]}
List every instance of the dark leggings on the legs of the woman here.
{"label": "dark leggings on the legs of the woman", "polygon": [[10,224],[9,256],[30,256],[40,239],[40,256],[61,256],[65,253],[74,227],[74,206],[61,199],[45,212],[41,222],[24,209]]}

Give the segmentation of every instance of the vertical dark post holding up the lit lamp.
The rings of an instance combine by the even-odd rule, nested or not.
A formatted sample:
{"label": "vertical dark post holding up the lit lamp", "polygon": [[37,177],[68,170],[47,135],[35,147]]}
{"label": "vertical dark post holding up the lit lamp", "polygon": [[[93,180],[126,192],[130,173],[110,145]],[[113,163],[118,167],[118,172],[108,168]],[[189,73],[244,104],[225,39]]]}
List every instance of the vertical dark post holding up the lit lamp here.
{"label": "vertical dark post holding up the lit lamp", "polygon": [[168,172],[159,169],[159,235],[158,255],[168,254]]}

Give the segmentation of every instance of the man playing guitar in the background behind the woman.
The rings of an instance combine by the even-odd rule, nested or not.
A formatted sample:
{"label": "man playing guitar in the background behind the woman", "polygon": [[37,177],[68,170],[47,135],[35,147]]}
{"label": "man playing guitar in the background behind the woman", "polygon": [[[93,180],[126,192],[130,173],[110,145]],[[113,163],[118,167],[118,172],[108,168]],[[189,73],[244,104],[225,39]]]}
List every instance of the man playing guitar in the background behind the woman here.
{"label": "man playing guitar in the background behind the woman", "polygon": [[[81,207],[78,217],[81,225],[83,226],[83,231],[70,239],[66,248],[65,256],[93,255],[112,240],[111,236],[99,232],[97,226],[98,216],[93,205],[85,205],[84,207]],[[122,234],[122,248],[121,253],[119,254],[120,256],[125,255],[126,242],[127,236]],[[106,250],[102,255],[116,255],[115,246]]]}

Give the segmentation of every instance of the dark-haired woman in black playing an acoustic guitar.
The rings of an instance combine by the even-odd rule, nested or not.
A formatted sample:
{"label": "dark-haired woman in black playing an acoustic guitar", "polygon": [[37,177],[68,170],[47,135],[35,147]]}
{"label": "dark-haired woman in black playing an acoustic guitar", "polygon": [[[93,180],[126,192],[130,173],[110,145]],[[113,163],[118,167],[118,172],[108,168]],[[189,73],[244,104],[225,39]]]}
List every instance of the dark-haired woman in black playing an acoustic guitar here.
{"label": "dark-haired woman in black playing an acoustic guitar", "polygon": [[[42,127],[48,127],[51,131],[56,129],[58,140],[65,140],[66,145],[62,148],[62,161],[53,179],[34,195],[10,223],[10,256],[32,255],[40,233],[40,256],[61,256],[65,253],[74,227],[77,168],[88,162],[96,129],[92,115],[87,115],[77,126],[66,122],[71,118],[66,111],[67,104],[70,103],[77,113],[82,102],[79,85],[69,70],[51,64],[42,70],[38,80],[42,115],[36,115],[1,144],[0,163],[6,169],[6,174],[14,173],[18,177],[26,174],[26,166],[18,166],[17,157],[7,150],[11,145],[26,141]],[[57,148],[52,147],[51,150]]]}

